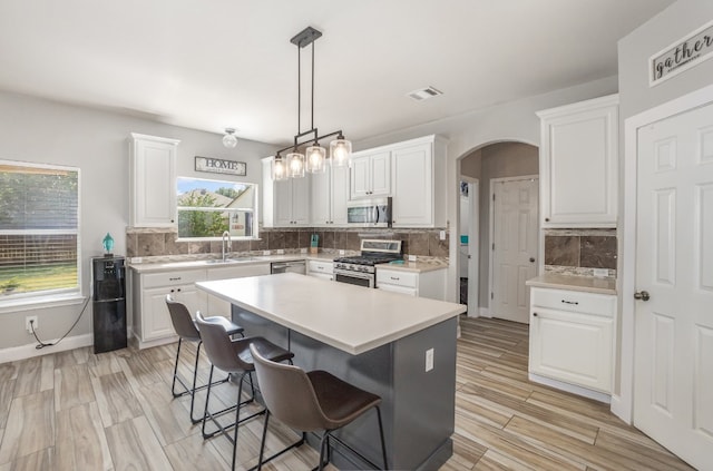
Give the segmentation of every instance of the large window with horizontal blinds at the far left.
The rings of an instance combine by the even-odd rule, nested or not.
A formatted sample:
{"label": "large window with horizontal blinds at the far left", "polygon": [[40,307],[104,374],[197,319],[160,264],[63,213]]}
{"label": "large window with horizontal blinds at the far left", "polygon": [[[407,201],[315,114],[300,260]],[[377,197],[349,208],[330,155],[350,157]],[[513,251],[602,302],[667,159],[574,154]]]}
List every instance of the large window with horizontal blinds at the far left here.
{"label": "large window with horizontal blinds at the far left", "polygon": [[0,302],[79,292],[79,169],[0,160]]}

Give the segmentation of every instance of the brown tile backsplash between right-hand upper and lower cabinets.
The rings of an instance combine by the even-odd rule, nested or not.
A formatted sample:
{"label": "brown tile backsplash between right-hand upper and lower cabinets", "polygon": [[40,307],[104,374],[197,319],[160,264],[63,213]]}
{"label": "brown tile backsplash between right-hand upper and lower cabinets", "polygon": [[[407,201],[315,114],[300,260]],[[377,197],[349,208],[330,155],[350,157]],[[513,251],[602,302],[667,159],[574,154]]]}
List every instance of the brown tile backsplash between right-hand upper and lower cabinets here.
{"label": "brown tile backsplash between right-hand upper and lower cabinets", "polygon": [[545,272],[592,275],[605,268],[616,277],[616,229],[545,230]]}

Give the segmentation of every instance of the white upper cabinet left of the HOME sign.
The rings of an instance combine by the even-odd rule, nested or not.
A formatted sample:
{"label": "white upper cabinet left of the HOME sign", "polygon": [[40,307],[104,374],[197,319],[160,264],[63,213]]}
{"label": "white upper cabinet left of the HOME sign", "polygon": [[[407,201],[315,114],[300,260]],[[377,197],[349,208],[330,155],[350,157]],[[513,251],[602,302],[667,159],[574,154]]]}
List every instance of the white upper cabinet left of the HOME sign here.
{"label": "white upper cabinet left of the HOME sign", "polygon": [[129,224],[170,227],[176,222],[176,156],[179,140],[131,133]]}

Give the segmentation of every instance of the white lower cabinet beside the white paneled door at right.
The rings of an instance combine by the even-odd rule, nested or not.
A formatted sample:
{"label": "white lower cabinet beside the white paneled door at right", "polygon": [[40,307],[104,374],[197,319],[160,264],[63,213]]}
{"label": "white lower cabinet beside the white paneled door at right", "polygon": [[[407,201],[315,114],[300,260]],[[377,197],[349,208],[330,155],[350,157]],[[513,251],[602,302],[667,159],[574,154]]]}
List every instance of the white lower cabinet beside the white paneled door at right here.
{"label": "white lower cabinet beside the white paneled door at right", "polygon": [[615,317],[614,295],[531,287],[530,374],[611,394]]}

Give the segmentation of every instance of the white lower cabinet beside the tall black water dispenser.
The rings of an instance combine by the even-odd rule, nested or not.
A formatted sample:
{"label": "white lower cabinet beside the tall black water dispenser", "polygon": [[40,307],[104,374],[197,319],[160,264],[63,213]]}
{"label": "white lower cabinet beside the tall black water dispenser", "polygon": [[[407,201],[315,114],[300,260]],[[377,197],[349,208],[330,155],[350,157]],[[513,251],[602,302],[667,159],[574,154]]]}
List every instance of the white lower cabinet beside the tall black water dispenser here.
{"label": "white lower cabinet beside the tall black water dispenser", "polygon": [[206,279],[205,269],[162,272],[134,275],[133,330],[139,349],[160,345],[176,340],[176,332],[166,306],[166,295],[185,303],[192,314],[204,312],[207,295],[196,288],[196,282]]}

